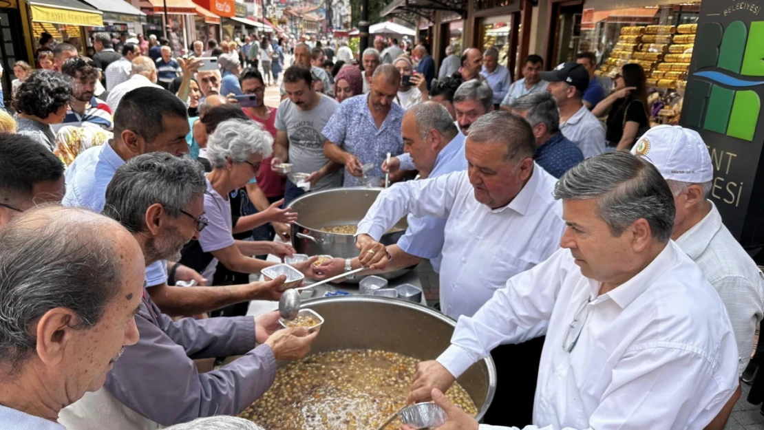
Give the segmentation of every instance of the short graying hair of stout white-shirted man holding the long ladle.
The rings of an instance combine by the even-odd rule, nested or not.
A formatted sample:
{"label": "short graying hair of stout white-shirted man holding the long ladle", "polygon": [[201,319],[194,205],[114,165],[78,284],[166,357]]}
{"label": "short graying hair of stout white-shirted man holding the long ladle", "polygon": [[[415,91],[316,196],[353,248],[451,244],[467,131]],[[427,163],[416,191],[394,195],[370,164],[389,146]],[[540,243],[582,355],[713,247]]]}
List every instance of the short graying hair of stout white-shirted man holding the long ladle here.
{"label": "short graying hair of stout white-shirted man holding the long ladle", "polygon": [[481,116],[470,126],[468,138],[478,144],[506,143],[504,161],[507,163],[520,163],[536,154],[536,138],[530,124],[510,112],[494,111]]}

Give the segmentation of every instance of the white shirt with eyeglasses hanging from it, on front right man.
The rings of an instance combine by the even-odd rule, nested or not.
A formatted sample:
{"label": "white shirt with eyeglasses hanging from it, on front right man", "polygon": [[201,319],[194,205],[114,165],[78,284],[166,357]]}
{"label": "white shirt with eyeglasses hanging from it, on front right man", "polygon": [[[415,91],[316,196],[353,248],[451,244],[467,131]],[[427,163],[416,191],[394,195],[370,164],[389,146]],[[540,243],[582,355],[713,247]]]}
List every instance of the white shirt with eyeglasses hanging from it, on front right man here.
{"label": "white shirt with eyeglasses hanging from it, on front right man", "polygon": [[[597,296],[600,286],[561,249],[508,280],[474,317],[459,318],[438,361],[460,375],[498,344],[547,327],[535,427],[526,428],[704,428],[736,389],[737,347],[724,303],[698,265],[669,241],[626,283]],[[568,353],[568,327],[587,306]],[[481,425],[489,428],[500,427]]]}

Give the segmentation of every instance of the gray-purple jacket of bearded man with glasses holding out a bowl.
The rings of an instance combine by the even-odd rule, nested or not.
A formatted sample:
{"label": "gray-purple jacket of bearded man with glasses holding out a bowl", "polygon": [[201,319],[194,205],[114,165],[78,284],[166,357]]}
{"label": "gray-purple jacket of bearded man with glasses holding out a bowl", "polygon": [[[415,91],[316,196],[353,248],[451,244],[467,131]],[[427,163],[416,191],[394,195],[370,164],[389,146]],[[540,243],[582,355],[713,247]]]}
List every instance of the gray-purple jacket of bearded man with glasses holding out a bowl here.
{"label": "gray-purple jacket of bearded man with glasses holding out a bowl", "polygon": [[[238,415],[274,383],[274,353],[265,344],[254,348],[251,316],[173,322],[144,294],[135,323],[141,338],[115,362],[105,389],[129,409],[160,425]],[[206,373],[199,373],[193,362],[241,354]],[[60,422],[66,428],[107,428],[100,422],[99,410],[78,411],[78,403],[61,411]]]}

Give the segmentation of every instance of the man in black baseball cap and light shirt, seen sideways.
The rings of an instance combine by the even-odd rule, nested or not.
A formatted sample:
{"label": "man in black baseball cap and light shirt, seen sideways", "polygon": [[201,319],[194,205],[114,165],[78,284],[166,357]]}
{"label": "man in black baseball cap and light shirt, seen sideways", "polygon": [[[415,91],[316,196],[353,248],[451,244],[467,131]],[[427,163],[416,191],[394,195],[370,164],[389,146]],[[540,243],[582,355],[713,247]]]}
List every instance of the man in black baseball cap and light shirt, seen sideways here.
{"label": "man in black baseball cap and light shirt, seen sideways", "polygon": [[560,109],[560,131],[584,154],[594,157],[605,151],[605,130],[597,117],[584,105],[584,91],[589,86],[589,73],[584,66],[568,61],[555,70],[540,73],[549,82],[546,90],[557,99]]}

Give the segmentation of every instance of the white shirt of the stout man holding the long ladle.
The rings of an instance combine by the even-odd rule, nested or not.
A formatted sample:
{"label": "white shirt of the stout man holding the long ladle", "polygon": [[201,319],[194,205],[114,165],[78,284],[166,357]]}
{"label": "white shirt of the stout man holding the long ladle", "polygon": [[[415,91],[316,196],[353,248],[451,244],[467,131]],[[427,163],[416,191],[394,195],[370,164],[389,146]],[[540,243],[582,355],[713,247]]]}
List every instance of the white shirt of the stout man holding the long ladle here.
{"label": "white shirt of the stout man holding the long ladle", "polygon": [[[565,222],[552,197],[557,179],[534,165],[509,205],[490,209],[474,197],[467,172],[397,183],[380,193],[358,224],[374,240],[406,214],[448,218],[440,267],[440,309],[452,318],[473,315],[511,276],[559,248]],[[538,333],[543,334],[543,331]]]}

